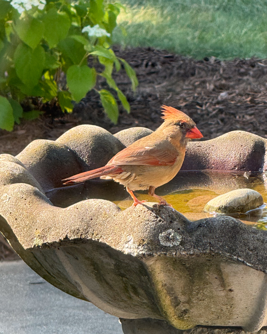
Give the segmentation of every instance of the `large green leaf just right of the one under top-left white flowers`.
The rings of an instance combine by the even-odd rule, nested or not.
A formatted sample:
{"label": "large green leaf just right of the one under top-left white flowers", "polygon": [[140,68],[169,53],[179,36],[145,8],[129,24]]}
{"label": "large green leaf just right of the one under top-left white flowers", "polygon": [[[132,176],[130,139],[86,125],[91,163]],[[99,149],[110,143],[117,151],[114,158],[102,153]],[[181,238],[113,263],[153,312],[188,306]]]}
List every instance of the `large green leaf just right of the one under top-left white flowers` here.
{"label": "large green leaf just right of the one under top-left white flowers", "polygon": [[67,36],[70,19],[66,13],[58,13],[55,8],[49,9],[43,18],[45,25],[44,39],[50,48],[56,47],[58,42]]}

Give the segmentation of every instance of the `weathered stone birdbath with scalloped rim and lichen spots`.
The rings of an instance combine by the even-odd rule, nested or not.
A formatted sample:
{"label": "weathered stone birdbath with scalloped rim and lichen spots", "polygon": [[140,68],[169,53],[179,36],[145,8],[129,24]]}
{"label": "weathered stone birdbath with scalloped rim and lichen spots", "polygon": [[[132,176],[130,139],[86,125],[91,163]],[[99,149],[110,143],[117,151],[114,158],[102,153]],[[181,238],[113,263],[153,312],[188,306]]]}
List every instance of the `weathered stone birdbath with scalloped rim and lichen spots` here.
{"label": "weathered stone birdbath with scalloped rim and lichen spots", "polygon": [[[266,231],[151,202],[122,210],[115,203],[127,193],[113,181],[62,187],[61,179],[103,166],[150,133],[81,125],[16,157],[0,155],[1,232],[37,274],[119,317],[125,334],[197,325],[258,331],[267,325]],[[264,192],[266,143],[242,131],[191,142],[182,170],[158,194],[223,194],[251,188],[251,179]]]}

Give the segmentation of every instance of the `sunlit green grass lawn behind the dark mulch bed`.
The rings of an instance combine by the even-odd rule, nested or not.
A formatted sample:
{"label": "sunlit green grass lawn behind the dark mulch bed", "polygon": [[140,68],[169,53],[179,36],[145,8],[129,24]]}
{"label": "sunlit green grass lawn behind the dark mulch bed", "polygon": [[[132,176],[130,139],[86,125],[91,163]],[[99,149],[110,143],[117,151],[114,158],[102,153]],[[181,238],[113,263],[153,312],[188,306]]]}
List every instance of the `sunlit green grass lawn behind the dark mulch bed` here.
{"label": "sunlit green grass lawn behind the dark mulch bed", "polygon": [[200,59],[267,57],[267,1],[120,0],[114,42]]}

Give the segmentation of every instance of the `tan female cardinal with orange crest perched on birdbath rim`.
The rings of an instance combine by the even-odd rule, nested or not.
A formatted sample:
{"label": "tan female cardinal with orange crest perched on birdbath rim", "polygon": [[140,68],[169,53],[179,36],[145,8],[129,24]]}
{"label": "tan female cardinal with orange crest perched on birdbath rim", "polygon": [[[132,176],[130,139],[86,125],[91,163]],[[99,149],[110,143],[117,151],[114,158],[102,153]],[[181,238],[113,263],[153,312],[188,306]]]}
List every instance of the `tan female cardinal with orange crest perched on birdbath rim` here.
{"label": "tan female cardinal with orange crest perched on birdbath rim", "polygon": [[118,152],[101,168],[71,176],[64,184],[84,182],[100,177],[113,179],[126,186],[133,206],[143,203],[133,190],[146,190],[160,200],[158,205],[169,205],[155,194],[155,189],[169,182],[179,172],[190,138],[202,138],[196,123],[186,114],[172,107],[162,106],[164,123],[152,134],[143,137]]}

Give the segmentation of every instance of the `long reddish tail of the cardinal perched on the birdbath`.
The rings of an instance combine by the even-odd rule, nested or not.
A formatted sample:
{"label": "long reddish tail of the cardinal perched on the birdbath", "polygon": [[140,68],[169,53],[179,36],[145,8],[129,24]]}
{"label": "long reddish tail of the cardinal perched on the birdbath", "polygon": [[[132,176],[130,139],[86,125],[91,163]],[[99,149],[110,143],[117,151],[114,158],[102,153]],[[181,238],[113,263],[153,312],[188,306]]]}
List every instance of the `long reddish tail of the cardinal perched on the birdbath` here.
{"label": "long reddish tail of the cardinal perched on the birdbath", "polygon": [[71,177],[63,179],[62,181],[67,181],[63,184],[79,183],[86,180],[94,179],[99,176],[108,174],[119,174],[121,172],[123,172],[123,170],[119,166],[104,166],[97,169],[89,170],[88,172],[73,175]]}

